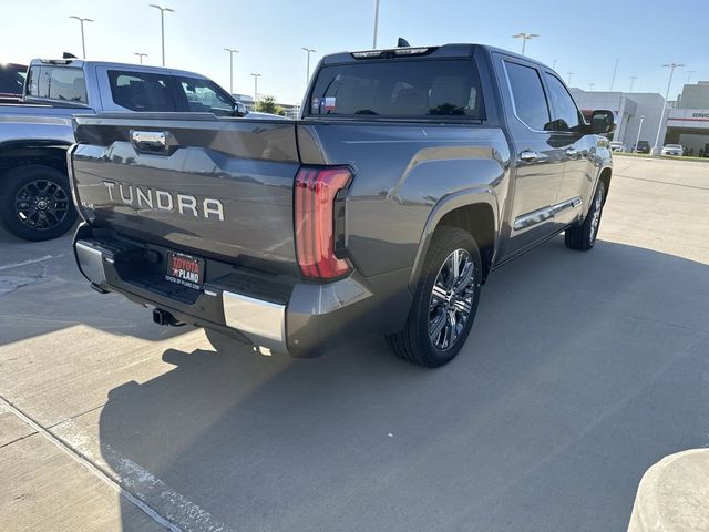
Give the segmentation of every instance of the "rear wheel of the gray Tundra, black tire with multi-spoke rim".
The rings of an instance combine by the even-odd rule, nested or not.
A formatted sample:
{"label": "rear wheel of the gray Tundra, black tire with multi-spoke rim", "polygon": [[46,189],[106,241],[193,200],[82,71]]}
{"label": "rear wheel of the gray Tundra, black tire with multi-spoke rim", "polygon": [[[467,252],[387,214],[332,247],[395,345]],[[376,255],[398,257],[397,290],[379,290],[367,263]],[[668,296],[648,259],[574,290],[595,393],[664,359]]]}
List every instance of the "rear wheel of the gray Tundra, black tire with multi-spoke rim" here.
{"label": "rear wheel of the gray Tundra, black tire with multi-spoke rim", "polygon": [[482,262],[475,239],[458,227],[439,227],[423,264],[407,325],[387,337],[393,352],[436,368],[461,350],[477,311]]}

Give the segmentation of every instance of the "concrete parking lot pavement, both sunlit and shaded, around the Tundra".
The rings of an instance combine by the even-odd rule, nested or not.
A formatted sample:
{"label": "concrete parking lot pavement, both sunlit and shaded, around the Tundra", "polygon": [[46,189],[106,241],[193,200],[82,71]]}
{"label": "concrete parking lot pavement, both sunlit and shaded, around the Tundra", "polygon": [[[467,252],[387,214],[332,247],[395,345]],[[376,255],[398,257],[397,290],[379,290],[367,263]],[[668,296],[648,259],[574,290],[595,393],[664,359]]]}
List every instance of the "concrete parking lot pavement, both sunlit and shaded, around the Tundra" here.
{"label": "concrete parking lot pavement, both sunlit and shaded, around the Tundra", "polygon": [[625,530],[709,446],[709,165],[615,166],[596,248],[492,275],[439,370],[215,348],[0,234],[0,530]]}

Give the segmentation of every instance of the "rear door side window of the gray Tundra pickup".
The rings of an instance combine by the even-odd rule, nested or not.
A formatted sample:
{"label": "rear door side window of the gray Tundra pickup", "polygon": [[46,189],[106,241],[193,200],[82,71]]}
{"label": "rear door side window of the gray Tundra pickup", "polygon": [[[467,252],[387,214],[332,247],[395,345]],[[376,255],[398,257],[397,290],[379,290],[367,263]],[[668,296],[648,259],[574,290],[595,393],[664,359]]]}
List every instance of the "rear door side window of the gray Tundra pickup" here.
{"label": "rear door side window of the gray Tundra pickup", "polygon": [[511,61],[505,61],[505,70],[517,119],[532,130],[547,131],[549,108],[537,70]]}

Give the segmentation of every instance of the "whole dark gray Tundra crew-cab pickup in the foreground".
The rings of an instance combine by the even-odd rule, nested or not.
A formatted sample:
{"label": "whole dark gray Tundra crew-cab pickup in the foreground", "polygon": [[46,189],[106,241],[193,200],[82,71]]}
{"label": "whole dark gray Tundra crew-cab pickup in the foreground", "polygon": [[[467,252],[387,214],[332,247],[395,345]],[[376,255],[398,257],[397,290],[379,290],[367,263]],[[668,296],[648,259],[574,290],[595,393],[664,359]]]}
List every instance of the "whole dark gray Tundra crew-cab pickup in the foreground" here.
{"label": "whole dark gray Tundra crew-cab pickup in the foreground", "polygon": [[477,44],[328,55],[298,121],[73,123],[92,287],[295,357],[380,332],[450,361],[493,269],[594,246],[612,175],[612,112],[586,123],[553,70]]}

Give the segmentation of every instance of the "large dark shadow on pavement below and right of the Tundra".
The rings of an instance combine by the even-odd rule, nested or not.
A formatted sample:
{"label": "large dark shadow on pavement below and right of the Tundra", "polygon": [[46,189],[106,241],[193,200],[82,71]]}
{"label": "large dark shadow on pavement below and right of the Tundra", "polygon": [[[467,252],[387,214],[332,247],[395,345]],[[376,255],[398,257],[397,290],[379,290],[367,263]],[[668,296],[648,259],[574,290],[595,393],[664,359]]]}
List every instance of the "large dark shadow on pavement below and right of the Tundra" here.
{"label": "large dark shadow on pavement below and right of the Tundra", "polygon": [[709,444],[708,290],[705,264],[557,238],[491,276],[444,368],[213,337],[112,390],[101,453],[183,530],[625,530],[647,468]]}

